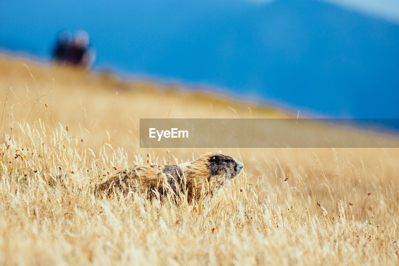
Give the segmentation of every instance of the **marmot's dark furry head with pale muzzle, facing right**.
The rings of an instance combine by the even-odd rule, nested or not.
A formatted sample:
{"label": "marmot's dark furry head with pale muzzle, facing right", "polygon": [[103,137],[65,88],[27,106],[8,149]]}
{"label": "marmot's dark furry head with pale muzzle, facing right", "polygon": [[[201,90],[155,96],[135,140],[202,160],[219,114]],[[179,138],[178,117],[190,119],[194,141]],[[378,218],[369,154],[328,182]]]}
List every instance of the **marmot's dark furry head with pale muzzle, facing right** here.
{"label": "marmot's dark furry head with pale muzzle, facing right", "polygon": [[201,156],[207,163],[210,177],[224,177],[225,180],[233,179],[241,173],[243,163],[231,156],[221,153],[207,153]]}

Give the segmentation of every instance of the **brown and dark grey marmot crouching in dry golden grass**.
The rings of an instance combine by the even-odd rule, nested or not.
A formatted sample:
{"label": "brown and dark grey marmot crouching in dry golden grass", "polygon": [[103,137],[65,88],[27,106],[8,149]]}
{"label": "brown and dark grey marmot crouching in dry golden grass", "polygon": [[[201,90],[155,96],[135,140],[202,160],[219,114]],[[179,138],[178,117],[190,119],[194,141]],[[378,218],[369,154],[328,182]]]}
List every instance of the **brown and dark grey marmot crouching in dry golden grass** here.
{"label": "brown and dark grey marmot crouching in dry golden grass", "polygon": [[157,192],[187,195],[189,202],[215,195],[229,179],[241,173],[243,164],[233,157],[206,153],[199,159],[182,165],[136,165],[110,177],[96,187],[109,195],[114,189],[121,192],[138,191],[152,198]]}

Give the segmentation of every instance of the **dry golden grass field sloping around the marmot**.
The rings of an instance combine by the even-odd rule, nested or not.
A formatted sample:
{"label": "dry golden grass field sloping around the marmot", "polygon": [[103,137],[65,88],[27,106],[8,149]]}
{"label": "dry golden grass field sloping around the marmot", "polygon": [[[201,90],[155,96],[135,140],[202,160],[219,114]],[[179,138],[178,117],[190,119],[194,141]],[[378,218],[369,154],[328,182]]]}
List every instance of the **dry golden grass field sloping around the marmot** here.
{"label": "dry golden grass field sloping around the marmot", "polygon": [[214,151],[139,149],[139,118],[287,114],[4,56],[0,86],[1,265],[399,264],[399,149],[222,149],[244,169],[207,211],[100,198],[115,168]]}

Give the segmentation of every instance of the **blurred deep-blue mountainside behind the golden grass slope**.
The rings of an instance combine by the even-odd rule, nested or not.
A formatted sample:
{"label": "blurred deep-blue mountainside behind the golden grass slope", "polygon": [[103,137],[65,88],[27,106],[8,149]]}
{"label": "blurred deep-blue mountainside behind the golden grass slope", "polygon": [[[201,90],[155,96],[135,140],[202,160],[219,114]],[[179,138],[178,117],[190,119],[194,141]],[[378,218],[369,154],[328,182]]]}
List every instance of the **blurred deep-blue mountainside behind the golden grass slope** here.
{"label": "blurred deep-blue mountainside behind the golden grass slope", "polygon": [[399,25],[312,0],[1,1],[0,47],[48,59],[86,30],[95,69],[316,117],[399,118]]}

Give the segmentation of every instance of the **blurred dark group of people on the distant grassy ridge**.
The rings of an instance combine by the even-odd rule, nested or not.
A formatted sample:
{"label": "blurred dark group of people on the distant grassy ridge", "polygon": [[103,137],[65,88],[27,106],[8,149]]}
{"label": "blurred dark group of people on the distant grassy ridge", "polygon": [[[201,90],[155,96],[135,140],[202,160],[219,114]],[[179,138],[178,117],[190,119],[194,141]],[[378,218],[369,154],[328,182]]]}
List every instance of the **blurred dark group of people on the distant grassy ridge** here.
{"label": "blurred dark group of people on the distant grassy ridge", "polygon": [[69,32],[61,33],[54,50],[54,60],[61,64],[90,69],[95,61],[95,52],[89,48],[87,32],[79,30],[74,38],[71,38]]}

